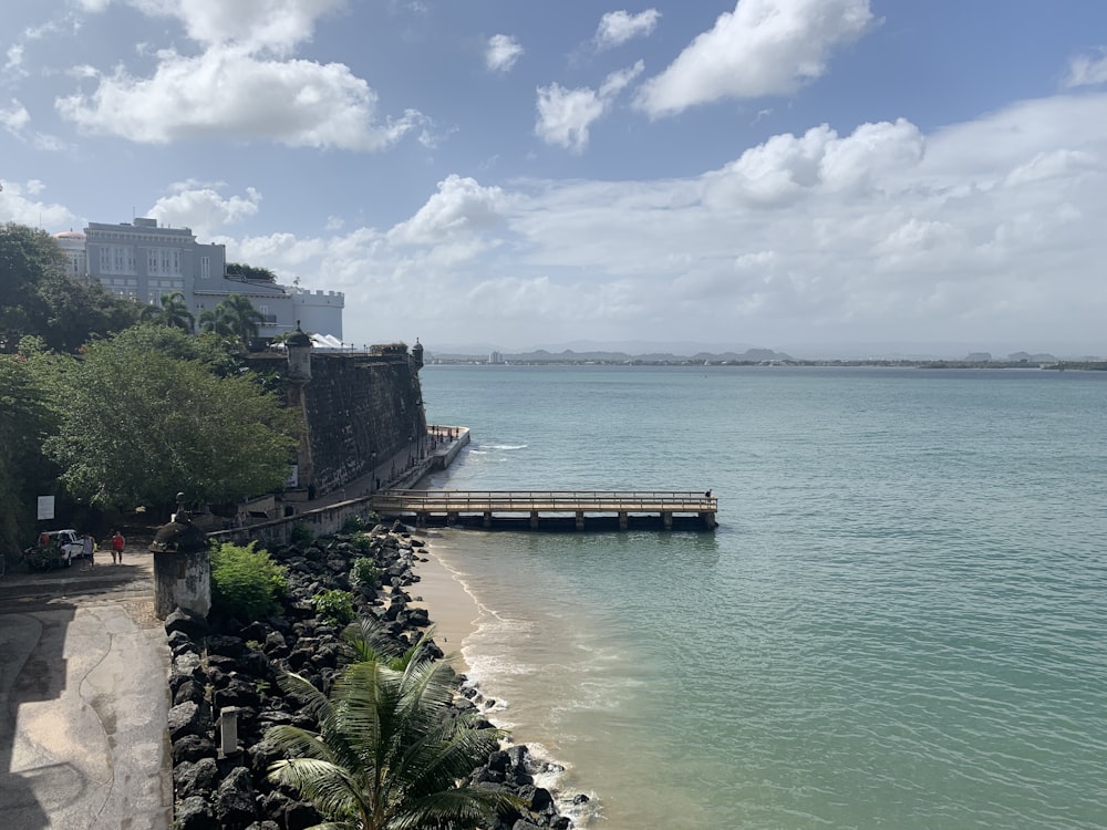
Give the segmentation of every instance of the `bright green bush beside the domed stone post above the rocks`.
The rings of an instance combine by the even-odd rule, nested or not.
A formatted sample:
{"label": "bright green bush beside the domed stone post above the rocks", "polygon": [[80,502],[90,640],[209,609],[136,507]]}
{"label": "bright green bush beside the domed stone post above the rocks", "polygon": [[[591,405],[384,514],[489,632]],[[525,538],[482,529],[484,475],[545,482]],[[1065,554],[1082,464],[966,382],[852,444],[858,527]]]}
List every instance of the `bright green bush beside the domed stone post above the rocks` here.
{"label": "bright green bush beside the domed stone post above the rocks", "polygon": [[288,594],[287,569],[267,550],[230,542],[211,546],[211,605],[229,616],[257,620],[280,608]]}

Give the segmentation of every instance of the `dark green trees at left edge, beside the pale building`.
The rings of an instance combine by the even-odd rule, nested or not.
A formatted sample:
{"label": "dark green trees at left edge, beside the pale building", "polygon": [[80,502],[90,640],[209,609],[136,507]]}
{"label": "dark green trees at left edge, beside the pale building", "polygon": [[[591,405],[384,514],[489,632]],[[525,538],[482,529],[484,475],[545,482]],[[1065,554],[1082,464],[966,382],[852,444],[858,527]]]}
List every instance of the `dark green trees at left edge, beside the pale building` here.
{"label": "dark green trees at left edge, beside the pale building", "polygon": [[137,318],[134,303],[65,274],[65,255],[49,234],[0,226],[0,352],[14,353],[25,335],[55,351],[76,352],[94,335],[122,331]]}

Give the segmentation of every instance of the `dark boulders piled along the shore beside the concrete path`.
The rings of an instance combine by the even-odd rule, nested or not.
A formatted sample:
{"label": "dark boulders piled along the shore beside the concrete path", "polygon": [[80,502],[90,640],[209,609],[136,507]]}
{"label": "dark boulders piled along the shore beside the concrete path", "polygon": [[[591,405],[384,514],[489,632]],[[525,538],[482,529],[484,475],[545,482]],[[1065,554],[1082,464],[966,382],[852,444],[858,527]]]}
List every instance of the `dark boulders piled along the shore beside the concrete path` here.
{"label": "dark boulders piled along the shore beside the concrete path", "polygon": [[[172,653],[168,733],[173,756],[173,787],[179,830],[302,830],[319,821],[311,805],[271,785],[269,765],[281,755],[265,740],[266,730],[278,724],[314,728],[297,701],[281,693],[278,677],[297,672],[327,692],[334,675],[349,658],[342,629],[321,619],[311,598],[322,591],[350,591],[354,610],[382,621],[390,634],[405,645],[431,624],[426,610],[410,603],[412,585],[418,581],[413,567],[424,542],[399,522],[377,526],[364,533],[369,544],[354,535],[315,539],[310,544],[290,544],[270,550],[271,558],[288,569],[288,596],[282,613],[267,620],[205,620],[176,610],[165,621]],[[355,543],[358,542],[358,543]],[[372,559],[381,587],[351,584],[354,559]],[[444,655],[432,642],[433,656]],[[456,713],[479,712],[490,704],[462,679]],[[220,713],[235,718],[235,726],[220,734]],[[237,729],[234,747],[224,746]],[[571,820],[560,815],[554,795],[536,787],[526,746],[493,753],[473,771],[474,784],[503,786],[525,805],[493,818],[487,830],[567,830]],[[588,797],[577,796],[580,803]]]}

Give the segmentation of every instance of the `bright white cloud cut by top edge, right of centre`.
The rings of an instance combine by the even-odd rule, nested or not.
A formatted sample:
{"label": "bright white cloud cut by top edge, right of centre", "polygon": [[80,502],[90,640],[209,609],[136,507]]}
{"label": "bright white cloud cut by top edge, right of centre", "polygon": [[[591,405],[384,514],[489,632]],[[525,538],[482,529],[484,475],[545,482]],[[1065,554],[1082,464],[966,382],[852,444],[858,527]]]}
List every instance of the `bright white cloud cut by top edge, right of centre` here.
{"label": "bright white cloud cut by top edge, right of centre", "polygon": [[869,0],[738,0],[642,84],[635,105],[660,117],[723,98],[793,93],[872,24]]}

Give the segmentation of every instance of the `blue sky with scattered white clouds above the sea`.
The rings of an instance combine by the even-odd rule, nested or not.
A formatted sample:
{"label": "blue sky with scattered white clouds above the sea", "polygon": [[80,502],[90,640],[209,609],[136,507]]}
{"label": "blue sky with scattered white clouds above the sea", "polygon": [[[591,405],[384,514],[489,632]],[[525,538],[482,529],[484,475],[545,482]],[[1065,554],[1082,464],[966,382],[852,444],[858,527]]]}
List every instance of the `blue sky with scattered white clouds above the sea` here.
{"label": "blue sky with scattered white clouds above the sea", "polygon": [[1107,355],[1103,0],[3,6],[0,221],[189,227],[351,343]]}

